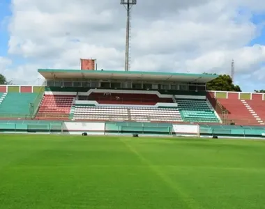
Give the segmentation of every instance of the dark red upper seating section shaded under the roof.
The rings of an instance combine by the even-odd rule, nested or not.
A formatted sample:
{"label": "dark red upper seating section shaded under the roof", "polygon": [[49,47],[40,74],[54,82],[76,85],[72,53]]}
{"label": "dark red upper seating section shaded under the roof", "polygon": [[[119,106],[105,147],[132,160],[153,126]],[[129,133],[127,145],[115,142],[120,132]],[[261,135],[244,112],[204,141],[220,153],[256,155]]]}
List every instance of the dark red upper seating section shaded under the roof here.
{"label": "dark red upper seating section shaded under the roof", "polygon": [[91,93],[89,96],[79,96],[79,100],[95,100],[99,104],[141,104],[154,105],[158,102],[172,103],[172,98],[159,98],[155,94],[135,93]]}

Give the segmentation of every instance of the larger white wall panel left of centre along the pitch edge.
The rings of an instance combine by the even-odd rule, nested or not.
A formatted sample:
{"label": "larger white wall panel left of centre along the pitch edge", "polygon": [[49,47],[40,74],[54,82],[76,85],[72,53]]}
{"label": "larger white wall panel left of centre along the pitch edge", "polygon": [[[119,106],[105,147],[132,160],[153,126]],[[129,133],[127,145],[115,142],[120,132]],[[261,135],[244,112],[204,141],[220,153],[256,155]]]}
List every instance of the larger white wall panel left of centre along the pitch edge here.
{"label": "larger white wall panel left of centre along the pitch edge", "polygon": [[104,135],[105,123],[64,122],[63,130],[67,130],[70,134],[87,132],[88,134]]}

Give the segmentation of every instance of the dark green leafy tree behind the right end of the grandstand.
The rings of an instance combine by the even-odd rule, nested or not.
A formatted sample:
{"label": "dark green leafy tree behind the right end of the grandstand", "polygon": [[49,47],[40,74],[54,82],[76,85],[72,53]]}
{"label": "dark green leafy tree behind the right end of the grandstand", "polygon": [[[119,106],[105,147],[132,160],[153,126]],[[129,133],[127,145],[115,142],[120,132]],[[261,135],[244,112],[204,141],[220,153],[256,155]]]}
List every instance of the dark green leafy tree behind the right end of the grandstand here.
{"label": "dark green leafy tree behind the right end of the grandstand", "polygon": [[[206,74],[206,73],[205,73]],[[216,74],[214,74],[216,75]],[[241,92],[239,85],[234,85],[229,75],[219,75],[216,79],[207,83],[209,91],[237,91]]]}

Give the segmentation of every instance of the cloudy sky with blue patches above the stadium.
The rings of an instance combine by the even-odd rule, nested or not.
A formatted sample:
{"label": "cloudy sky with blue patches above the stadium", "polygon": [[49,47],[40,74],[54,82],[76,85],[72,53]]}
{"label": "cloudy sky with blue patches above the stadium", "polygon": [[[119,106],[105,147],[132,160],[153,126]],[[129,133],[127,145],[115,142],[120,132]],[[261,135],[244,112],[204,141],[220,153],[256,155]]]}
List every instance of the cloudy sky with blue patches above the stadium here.
{"label": "cloudy sky with blue patches above the stadium", "polygon": [[[161,2],[161,3],[160,3]],[[138,0],[130,70],[230,73],[243,91],[265,88],[261,0]],[[0,73],[38,84],[38,68],[123,70],[126,10],[119,0],[0,0]]]}

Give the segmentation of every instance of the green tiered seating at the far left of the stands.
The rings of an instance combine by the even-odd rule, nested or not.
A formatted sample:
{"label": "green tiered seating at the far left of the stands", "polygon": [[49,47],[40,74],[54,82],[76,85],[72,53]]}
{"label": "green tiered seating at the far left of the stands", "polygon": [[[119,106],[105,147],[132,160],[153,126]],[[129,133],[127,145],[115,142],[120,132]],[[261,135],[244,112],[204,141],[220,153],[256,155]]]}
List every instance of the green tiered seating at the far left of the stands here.
{"label": "green tiered seating at the far left of the stands", "polygon": [[37,93],[7,93],[0,105],[1,118],[29,118],[29,103],[33,102]]}

